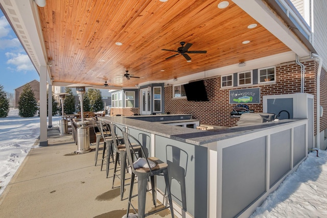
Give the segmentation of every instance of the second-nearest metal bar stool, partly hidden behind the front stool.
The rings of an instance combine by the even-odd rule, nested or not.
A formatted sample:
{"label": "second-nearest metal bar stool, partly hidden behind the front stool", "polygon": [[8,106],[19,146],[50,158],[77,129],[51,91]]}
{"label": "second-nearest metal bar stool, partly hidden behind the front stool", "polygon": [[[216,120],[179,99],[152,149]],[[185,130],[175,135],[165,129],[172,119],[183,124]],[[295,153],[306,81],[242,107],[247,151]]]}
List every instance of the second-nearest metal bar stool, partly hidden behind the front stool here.
{"label": "second-nearest metal bar stool, partly hidden behind the front stool", "polygon": [[[113,183],[115,177],[118,177],[121,180],[121,200],[123,200],[124,197],[124,187],[125,187],[125,169],[127,169],[127,153],[126,153],[126,146],[125,143],[122,143],[120,137],[117,135],[117,132],[120,131],[123,133],[123,130],[119,128],[118,126],[114,124],[109,124],[110,131],[112,133],[113,137],[113,148],[114,151],[116,152],[116,158],[114,161],[114,170],[113,170],[113,179],[112,179],[112,188],[113,188]],[[122,137],[122,139],[124,139]],[[141,147],[138,146],[138,144],[132,144],[133,149],[136,152],[141,152]],[[116,174],[116,169],[117,169],[117,163],[118,160],[120,159],[121,162],[121,174],[120,177]]]}

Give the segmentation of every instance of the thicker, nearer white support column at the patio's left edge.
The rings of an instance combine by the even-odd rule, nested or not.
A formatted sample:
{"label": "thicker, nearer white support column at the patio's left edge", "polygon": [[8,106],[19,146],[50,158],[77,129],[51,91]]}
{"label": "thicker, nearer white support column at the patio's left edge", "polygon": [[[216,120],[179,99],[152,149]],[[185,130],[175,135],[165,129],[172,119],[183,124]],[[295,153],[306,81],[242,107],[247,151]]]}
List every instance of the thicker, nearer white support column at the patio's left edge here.
{"label": "thicker, nearer white support column at the patio's left edge", "polygon": [[40,66],[40,146],[48,146],[46,128],[46,66]]}

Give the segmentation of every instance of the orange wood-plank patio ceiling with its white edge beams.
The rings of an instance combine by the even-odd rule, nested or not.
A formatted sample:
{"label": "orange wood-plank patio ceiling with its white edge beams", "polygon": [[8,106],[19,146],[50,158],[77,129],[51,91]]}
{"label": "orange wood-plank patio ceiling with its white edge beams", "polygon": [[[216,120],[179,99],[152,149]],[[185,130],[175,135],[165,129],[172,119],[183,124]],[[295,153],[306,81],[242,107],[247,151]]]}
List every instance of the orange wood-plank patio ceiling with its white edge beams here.
{"label": "orange wood-plank patio ceiling with its white edge beams", "polygon": [[[309,39],[290,28],[292,19],[283,17],[282,7],[273,0],[46,0],[42,8],[34,1],[24,2],[0,0],[34,66],[38,72],[46,66],[54,85],[172,84],[174,78],[187,82],[312,52]],[[228,6],[220,9],[224,2]],[[311,33],[298,14],[290,13]],[[188,53],[192,62],[186,62],[174,52],[182,41],[193,44],[188,51],[207,52]],[[241,62],[246,66],[240,68]],[[139,78],[128,80],[126,70]]]}

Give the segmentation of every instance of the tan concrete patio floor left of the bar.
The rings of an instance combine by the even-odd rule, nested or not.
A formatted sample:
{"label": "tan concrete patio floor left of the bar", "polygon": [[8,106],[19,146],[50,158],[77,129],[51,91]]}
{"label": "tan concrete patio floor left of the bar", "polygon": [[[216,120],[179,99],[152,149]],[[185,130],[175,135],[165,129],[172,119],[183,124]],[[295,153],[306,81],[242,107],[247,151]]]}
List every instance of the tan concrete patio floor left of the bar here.
{"label": "tan concrete patio floor left of the bar", "polygon": [[[60,136],[58,129],[48,130],[48,142],[48,147],[36,145],[20,165],[0,197],[0,217],[122,217],[126,214],[130,180],[125,182],[121,201],[120,180],[116,179],[115,188],[111,188],[113,163],[110,163],[109,178],[105,166],[100,171],[102,150],[95,166],[95,144],[91,144],[91,152],[75,154],[77,146],[72,135]],[[137,197],[132,202],[137,208]],[[154,208],[148,192],[146,212],[160,205],[158,202]],[[171,217],[171,214],[165,209],[148,217]]]}

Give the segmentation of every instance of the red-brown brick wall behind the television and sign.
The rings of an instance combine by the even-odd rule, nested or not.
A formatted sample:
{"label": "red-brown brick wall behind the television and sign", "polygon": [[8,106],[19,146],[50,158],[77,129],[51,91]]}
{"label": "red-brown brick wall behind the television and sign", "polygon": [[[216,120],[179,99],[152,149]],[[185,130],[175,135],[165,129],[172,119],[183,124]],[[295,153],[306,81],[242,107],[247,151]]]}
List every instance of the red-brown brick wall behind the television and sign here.
{"label": "red-brown brick wall behind the television and sign", "polygon": [[[314,60],[302,62],[305,64],[305,90],[304,92],[316,95],[316,72],[318,63]],[[327,111],[327,75],[326,71],[322,72],[321,76],[321,99],[320,104]],[[295,62],[279,64],[276,66],[276,83],[267,85],[252,85],[243,86],[242,88],[260,87],[261,104],[248,104],[251,110],[256,113],[263,112],[262,96],[271,94],[288,94],[300,92],[300,66]],[[322,82],[323,81],[323,82]],[[214,126],[236,126],[239,118],[229,117],[232,107],[236,104],[229,104],[229,90],[221,89],[220,78],[213,78],[206,80],[206,91],[209,102],[188,102],[186,99],[173,99],[172,86],[165,87],[165,112],[172,114],[177,113],[190,113],[193,118],[200,119],[201,124],[214,125]],[[234,87],[232,89],[241,89]],[[314,99],[316,105],[316,99]],[[315,106],[316,116],[316,106]],[[327,112],[325,113],[327,114]],[[327,128],[327,115],[320,119],[320,129]],[[316,129],[316,117],[315,117]]]}

